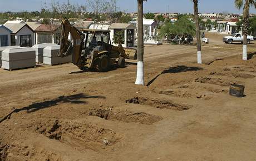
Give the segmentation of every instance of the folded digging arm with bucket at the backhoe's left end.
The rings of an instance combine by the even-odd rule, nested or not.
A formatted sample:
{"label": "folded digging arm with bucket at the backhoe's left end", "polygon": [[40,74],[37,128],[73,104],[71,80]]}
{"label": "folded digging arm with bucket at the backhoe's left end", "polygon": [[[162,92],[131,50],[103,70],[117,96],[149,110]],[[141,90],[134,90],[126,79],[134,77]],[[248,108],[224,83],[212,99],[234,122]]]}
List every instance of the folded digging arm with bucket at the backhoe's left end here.
{"label": "folded digging arm with bucket at the backhoe's left end", "polygon": [[[61,22],[62,33],[61,33],[61,44],[59,57],[68,56],[72,51],[72,63],[77,67],[82,68],[84,63],[82,61],[81,53],[83,48],[83,39],[85,39],[85,34],[79,31],[76,27],[72,26],[68,19],[63,19]],[[68,34],[71,33],[73,38],[73,50],[72,43],[68,41]]]}

